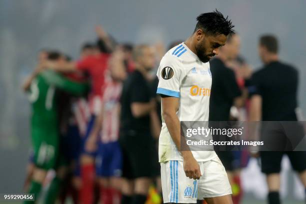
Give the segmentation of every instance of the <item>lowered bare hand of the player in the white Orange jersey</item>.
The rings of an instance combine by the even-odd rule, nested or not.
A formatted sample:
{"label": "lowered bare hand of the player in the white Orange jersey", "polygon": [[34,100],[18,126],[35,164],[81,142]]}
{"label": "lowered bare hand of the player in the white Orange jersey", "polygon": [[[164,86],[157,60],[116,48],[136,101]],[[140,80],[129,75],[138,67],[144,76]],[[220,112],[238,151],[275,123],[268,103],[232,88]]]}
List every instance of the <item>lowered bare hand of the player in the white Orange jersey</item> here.
{"label": "lowered bare hand of the player in the white Orange jersey", "polygon": [[192,154],[190,156],[184,157],[183,168],[184,168],[184,171],[187,177],[193,178],[193,179],[200,178],[201,171],[200,171],[197,161],[194,159]]}

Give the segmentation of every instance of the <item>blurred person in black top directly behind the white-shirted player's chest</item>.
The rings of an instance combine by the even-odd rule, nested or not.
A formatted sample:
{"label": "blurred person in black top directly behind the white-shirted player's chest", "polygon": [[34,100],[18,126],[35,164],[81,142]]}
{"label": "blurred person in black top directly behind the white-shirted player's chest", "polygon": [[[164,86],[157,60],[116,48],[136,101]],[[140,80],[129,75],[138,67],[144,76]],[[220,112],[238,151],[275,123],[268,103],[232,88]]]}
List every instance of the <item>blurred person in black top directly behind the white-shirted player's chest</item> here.
{"label": "blurred person in black top directly behind the white-shirted player's chest", "polygon": [[[238,34],[228,36],[226,44],[220,47],[219,54],[212,59],[210,70],[212,75],[211,94],[209,102],[209,121],[228,121],[230,108],[236,108],[244,104],[245,97],[241,96],[234,71],[228,64],[235,60],[240,51],[240,37]],[[215,149],[216,150],[216,149]],[[229,182],[233,185],[234,154],[230,149],[216,151],[225,167]],[[233,203],[239,203],[234,195]]]}

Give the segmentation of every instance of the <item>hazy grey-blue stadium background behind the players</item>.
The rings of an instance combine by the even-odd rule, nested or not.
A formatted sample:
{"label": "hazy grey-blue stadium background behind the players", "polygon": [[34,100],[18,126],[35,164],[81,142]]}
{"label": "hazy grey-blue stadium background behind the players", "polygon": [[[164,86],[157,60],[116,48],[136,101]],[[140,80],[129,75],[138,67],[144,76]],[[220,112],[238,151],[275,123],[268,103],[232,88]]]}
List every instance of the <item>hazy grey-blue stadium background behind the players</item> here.
{"label": "hazy grey-blue stadium background behind the players", "polygon": [[[191,34],[197,14],[215,8],[232,19],[241,36],[241,54],[255,69],[261,65],[258,36],[278,36],[280,58],[299,69],[299,106],[306,113],[305,0],[0,0],[0,193],[22,191],[30,111],[20,84],[33,69],[39,48],[58,48],[76,59],[81,43],[95,39],[95,24],[119,42],[163,41],[167,46]],[[288,172],[282,190],[296,194],[286,200],[302,198]],[[263,179],[261,175],[244,183]],[[261,188],[259,192],[249,190],[244,203],[257,203],[246,201],[254,196],[264,198],[265,184],[257,185],[250,188]]]}

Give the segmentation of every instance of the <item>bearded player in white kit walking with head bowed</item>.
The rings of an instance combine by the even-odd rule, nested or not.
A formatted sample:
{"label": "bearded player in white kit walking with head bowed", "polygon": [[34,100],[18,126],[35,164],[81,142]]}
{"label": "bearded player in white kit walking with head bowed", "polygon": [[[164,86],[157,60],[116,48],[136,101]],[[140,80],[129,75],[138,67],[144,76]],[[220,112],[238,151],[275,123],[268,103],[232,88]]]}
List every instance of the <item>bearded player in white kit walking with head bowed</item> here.
{"label": "bearded player in white kit walking with head bowed", "polygon": [[158,154],[163,201],[195,203],[205,199],[208,204],[230,204],[231,187],[216,153],[180,148],[180,121],[208,121],[208,61],[218,54],[227,35],[234,33],[231,21],[217,10],[196,19],[192,35],[166,52],[157,71],[162,106]]}

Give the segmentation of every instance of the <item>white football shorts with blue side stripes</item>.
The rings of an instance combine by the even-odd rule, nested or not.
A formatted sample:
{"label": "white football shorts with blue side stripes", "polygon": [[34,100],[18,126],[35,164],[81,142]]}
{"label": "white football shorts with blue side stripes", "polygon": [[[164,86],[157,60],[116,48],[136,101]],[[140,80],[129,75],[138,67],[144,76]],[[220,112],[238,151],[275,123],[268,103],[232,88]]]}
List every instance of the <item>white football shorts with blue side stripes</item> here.
{"label": "white football shorts with blue side stripes", "polygon": [[231,187],[220,159],[198,161],[199,180],[186,177],[183,161],[160,163],[163,202],[196,203],[196,199],[231,194]]}

